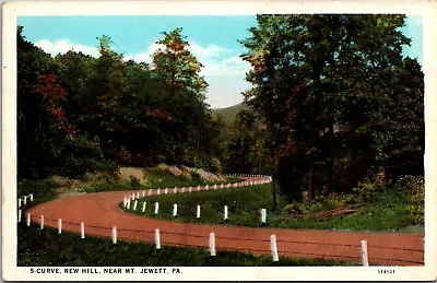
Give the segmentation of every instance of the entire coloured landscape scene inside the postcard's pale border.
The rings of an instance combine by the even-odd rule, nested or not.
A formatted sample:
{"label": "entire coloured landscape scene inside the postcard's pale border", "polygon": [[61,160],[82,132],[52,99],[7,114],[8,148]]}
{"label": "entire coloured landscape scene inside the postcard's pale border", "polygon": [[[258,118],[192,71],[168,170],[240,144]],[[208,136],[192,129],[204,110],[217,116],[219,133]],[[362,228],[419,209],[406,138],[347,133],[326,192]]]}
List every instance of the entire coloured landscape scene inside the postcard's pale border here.
{"label": "entire coloured landscape scene inside the postcard's pale border", "polygon": [[16,266],[426,267],[417,31],[405,14],[19,16]]}

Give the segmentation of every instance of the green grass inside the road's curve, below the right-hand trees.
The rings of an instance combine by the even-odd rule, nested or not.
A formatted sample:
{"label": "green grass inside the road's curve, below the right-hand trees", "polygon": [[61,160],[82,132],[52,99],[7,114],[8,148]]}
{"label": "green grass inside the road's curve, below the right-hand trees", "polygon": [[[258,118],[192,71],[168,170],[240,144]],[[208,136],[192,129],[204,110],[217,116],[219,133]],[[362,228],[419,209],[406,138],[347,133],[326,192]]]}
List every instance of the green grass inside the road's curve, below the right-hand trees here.
{"label": "green grass inside the road's curve, below the right-hand trees", "polygon": [[[280,199],[279,208],[272,212],[272,192],[270,185],[246,188],[210,190],[181,194],[151,196],[140,199],[135,214],[142,213],[142,201],[146,201],[144,215],[149,217],[168,219],[177,222],[229,224],[241,226],[262,226],[260,209],[267,209],[265,226],[281,228],[315,228],[341,231],[408,231],[416,225],[414,217],[404,205],[403,198],[395,191],[380,192],[374,203],[364,205],[356,213],[344,216],[332,216],[320,220],[282,219],[285,202]],[[154,202],[160,203],[160,213],[154,215]],[[178,204],[178,215],[173,216],[173,204]],[[201,205],[201,217],[196,219],[197,205]],[[223,220],[223,207],[228,207],[228,220]],[[326,203],[310,205],[326,208]],[[120,203],[122,208],[122,203]],[[417,231],[417,229],[415,229]]]}

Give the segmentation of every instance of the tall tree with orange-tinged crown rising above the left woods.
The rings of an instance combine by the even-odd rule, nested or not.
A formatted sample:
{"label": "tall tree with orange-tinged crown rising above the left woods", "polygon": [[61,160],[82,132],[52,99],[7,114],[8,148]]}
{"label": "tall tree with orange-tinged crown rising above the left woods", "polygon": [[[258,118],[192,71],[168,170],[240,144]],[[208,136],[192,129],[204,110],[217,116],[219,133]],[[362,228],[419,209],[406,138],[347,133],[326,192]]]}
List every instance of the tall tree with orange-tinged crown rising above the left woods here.
{"label": "tall tree with orange-tinged crown rising above the left woods", "polygon": [[162,47],[153,54],[153,71],[167,93],[165,105],[173,120],[169,151],[194,161],[199,158],[197,153],[210,152],[213,132],[209,131],[214,131],[216,125],[204,102],[208,83],[200,75],[203,66],[188,50],[181,31],[163,33],[164,38],[157,42]]}

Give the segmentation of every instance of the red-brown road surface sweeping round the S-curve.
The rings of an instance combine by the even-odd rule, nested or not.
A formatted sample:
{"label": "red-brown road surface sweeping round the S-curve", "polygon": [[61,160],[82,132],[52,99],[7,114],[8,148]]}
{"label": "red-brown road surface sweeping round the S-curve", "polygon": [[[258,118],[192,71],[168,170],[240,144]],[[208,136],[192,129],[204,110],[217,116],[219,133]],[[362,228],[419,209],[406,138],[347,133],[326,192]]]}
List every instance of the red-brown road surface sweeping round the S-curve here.
{"label": "red-brown road surface sweeping round the S-curve", "polygon": [[[245,177],[247,181],[263,177]],[[244,186],[239,182],[238,186]],[[201,190],[204,190],[201,187]],[[210,186],[210,189],[211,186]],[[161,190],[163,192],[163,190]],[[168,189],[173,193],[174,189]],[[196,193],[197,187],[193,187]],[[324,258],[361,262],[361,240],[366,239],[370,264],[423,266],[424,239],[418,234],[398,233],[347,233],[310,229],[257,228],[227,225],[188,224],[147,219],[123,212],[119,204],[123,197],[140,191],[111,191],[80,194],[42,203],[29,209],[33,222],[57,227],[62,219],[62,228],[80,232],[83,221],[85,233],[110,237],[117,226],[119,239],[154,243],[154,231],[160,228],[162,245],[208,247],[209,235],[215,233],[216,249],[270,253],[270,236],[276,235],[279,255],[295,258]],[[147,193],[147,191],[146,191]],[[152,194],[156,190],[152,190]],[[189,193],[186,189],[185,193]],[[142,205],[138,205],[141,209]],[[26,214],[25,214],[26,216]],[[109,240],[109,239],[108,239]],[[218,253],[220,256],[220,253]]]}

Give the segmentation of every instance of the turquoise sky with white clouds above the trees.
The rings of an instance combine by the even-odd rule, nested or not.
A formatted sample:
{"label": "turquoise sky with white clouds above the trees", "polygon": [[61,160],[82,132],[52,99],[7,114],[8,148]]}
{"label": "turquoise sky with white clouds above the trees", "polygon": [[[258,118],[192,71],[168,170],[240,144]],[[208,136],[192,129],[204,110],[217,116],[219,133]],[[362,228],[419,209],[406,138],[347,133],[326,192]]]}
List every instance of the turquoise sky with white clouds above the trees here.
{"label": "turquoise sky with white clouds above the trees", "polygon": [[[246,49],[238,40],[250,36],[255,15],[19,16],[17,24],[27,40],[52,56],[72,49],[97,57],[97,37],[108,35],[114,50],[138,62],[151,62],[162,32],[182,27],[190,51],[204,66],[201,74],[209,83],[206,103],[212,108],[243,102],[241,92],[250,89],[245,81],[250,66],[239,57]],[[422,64],[422,17],[410,15],[402,32],[412,38],[404,55]]]}

